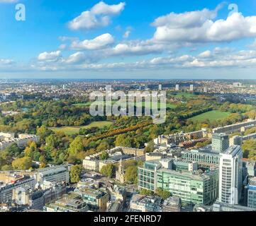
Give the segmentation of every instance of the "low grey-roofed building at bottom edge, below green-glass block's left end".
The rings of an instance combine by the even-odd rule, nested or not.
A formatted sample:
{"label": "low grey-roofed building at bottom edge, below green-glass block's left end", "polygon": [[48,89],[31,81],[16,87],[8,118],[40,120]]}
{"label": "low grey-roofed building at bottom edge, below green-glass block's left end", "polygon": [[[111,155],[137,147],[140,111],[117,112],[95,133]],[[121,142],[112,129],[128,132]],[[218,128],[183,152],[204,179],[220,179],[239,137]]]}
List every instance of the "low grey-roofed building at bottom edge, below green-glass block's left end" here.
{"label": "low grey-roofed building at bottom edge, below green-glass block's left end", "polygon": [[134,194],[130,200],[129,212],[162,212],[162,198]]}

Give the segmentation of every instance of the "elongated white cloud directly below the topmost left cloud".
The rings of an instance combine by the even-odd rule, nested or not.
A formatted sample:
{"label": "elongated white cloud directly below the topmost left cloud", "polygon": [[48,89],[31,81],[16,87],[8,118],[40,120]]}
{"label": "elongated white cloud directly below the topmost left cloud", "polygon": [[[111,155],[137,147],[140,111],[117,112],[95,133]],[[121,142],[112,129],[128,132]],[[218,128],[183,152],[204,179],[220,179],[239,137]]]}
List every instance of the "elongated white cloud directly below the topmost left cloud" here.
{"label": "elongated white cloud directly below the topmost left cloud", "polygon": [[112,35],[106,33],[104,35],[99,35],[98,37],[95,37],[93,40],[84,40],[82,42],[74,41],[72,42],[70,48],[71,49],[103,49],[107,47],[110,44],[113,44],[114,39]]}

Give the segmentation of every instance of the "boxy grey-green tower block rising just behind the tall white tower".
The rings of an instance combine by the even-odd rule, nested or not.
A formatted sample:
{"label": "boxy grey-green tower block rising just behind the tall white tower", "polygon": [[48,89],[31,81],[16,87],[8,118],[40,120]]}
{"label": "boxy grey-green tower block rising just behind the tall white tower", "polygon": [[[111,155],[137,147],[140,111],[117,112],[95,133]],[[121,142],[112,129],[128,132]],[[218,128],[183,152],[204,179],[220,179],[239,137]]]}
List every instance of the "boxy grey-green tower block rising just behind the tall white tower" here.
{"label": "boxy grey-green tower block rising just behind the tall white tower", "polygon": [[222,153],[229,147],[229,138],[225,133],[215,133],[212,138],[212,150],[217,153]]}

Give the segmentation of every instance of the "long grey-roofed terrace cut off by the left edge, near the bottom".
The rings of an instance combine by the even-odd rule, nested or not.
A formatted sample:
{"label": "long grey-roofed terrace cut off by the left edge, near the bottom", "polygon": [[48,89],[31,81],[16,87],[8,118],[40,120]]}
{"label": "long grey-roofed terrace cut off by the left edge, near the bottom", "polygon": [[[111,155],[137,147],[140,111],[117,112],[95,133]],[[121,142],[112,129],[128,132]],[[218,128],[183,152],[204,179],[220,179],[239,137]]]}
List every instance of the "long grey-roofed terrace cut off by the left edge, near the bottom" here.
{"label": "long grey-roofed terrace cut off by the left edge, near the bottom", "polygon": [[16,179],[13,180],[13,182],[0,186],[0,203],[10,202],[12,200],[14,189],[17,189],[18,187],[34,189],[35,184],[36,182],[33,177],[27,175],[16,177]]}

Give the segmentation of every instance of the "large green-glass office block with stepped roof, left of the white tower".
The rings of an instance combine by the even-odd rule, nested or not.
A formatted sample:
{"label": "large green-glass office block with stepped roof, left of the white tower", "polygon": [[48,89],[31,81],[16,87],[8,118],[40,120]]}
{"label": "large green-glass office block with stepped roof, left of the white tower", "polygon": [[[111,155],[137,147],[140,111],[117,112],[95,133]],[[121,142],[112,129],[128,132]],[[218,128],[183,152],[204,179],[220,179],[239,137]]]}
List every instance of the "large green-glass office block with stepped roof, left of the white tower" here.
{"label": "large green-glass office block with stepped roof, left of the white tower", "polygon": [[213,203],[218,195],[218,168],[203,172],[196,162],[165,159],[145,162],[138,168],[138,189],[156,191],[161,188],[183,203]]}

